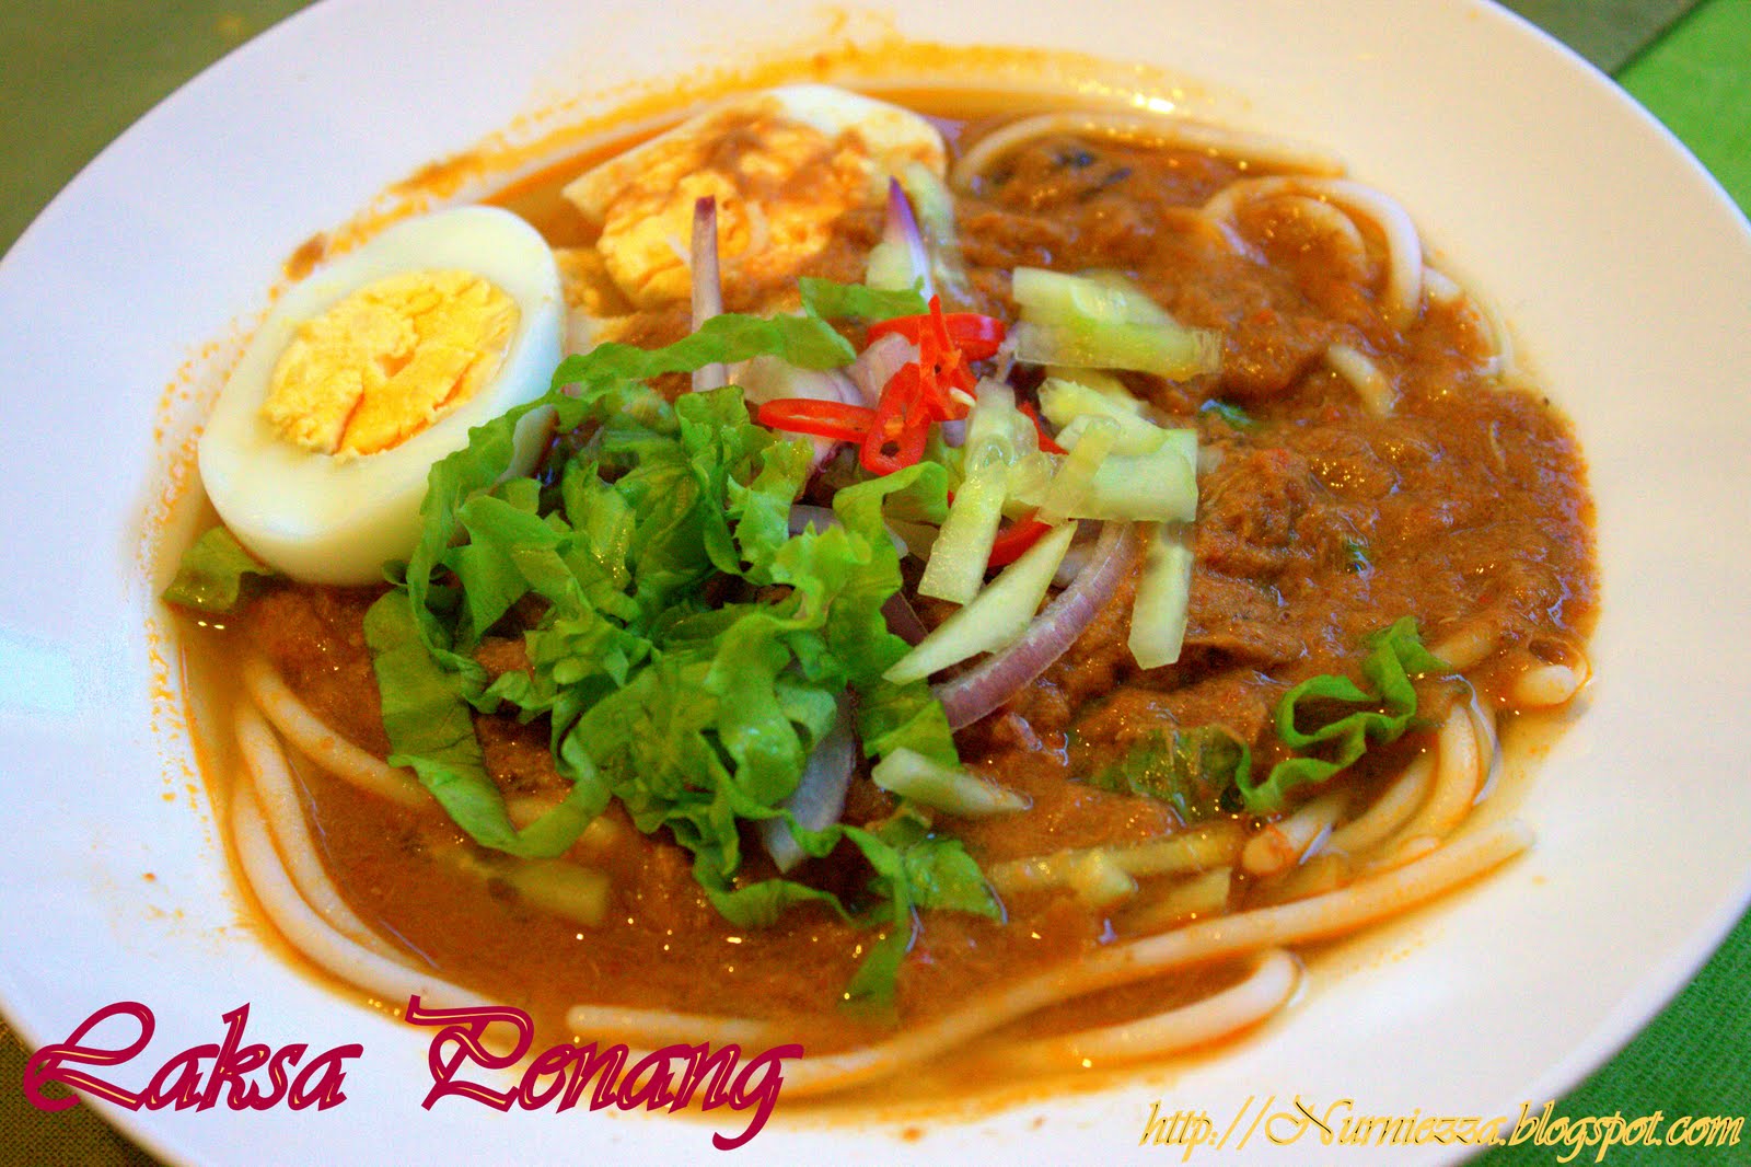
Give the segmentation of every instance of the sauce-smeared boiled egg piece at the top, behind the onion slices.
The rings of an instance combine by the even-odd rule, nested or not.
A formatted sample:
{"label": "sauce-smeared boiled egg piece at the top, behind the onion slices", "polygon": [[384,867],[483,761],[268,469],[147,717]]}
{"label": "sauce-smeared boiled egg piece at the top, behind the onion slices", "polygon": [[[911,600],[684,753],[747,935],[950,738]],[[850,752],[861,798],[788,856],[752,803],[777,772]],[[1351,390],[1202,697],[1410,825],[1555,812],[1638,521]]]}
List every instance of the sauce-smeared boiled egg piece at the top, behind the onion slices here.
{"label": "sauce-smeared boiled egg piece at the top, behind the onion slices", "polygon": [[725,286],[784,286],[821,252],[833,223],[881,207],[888,175],[907,163],[939,175],[942,135],[888,102],[823,84],[730,98],[608,159],[566,186],[601,228],[595,251],[634,305],[692,291],[693,203],[718,200]]}

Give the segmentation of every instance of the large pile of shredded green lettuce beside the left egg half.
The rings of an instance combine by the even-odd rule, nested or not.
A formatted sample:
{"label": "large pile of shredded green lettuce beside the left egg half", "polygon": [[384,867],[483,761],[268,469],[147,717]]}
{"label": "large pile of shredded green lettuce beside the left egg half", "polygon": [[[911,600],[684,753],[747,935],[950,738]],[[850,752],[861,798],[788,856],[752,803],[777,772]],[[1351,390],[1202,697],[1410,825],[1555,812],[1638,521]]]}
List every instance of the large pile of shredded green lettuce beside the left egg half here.
{"label": "large pile of shredded green lettuce beside the left egg half", "polygon": [[[840,307],[849,301],[863,298]],[[432,468],[401,587],[366,619],[390,762],[411,766],[473,839],[527,859],[566,850],[618,799],[641,831],[667,829],[692,852],[695,878],[737,925],[819,902],[890,911],[883,944],[900,944],[916,908],[995,915],[977,866],[951,838],[809,831],[783,810],[847,690],[872,757],[911,750],[958,764],[928,685],[883,678],[907,652],[881,615],[900,587],[884,512],[940,522],[946,471],[919,463],[847,485],[833,499],[837,524],[791,536],[807,443],[753,424],[734,387],[667,403],[644,384],[760,354],[804,368],[851,357],[816,315],[720,315],[667,349],[602,345],[560,364],[546,398],[476,428]],[[552,410],[560,433],[587,436],[562,443],[574,452],[538,478],[501,482],[510,435],[536,408]],[[720,603],[706,599],[707,584]],[[504,626],[513,610],[539,617]],[[476,662],[497,627],[522,631],[527,669],[492,678]],[[511,825],[471,710],[550,718],[555,766],[573,783],[557,810]],[[784,820],[809,855],[856,845],[876,871],[870,902],[791,880],[746,881],[739,824],[769,818]],[[891,997],[898,960],[888,967],[888,950],[876,948],[860,999]]]}

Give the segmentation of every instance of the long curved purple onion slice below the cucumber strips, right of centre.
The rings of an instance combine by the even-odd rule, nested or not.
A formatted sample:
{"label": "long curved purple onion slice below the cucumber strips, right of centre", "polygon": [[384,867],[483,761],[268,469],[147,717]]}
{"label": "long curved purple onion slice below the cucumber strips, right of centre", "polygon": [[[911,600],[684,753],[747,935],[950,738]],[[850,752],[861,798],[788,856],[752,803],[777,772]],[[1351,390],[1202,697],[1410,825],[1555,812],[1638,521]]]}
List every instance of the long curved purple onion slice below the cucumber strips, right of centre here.
{"label": "long curved purple onion slice below the cucumber strips, right of centre", "polygon": [[953,729],[972,725],[991,710],[1002,706],[1049,669],[1058,657],[1077,643],[1107,601],[1112,599],[1136,559],[1136,538],[1131,524],[1108,522],[1100,541],[1089,554],[1089,566],[1052,603],[1033,619],[1028,631],[1009,648],[993,654],[979,668],[961,673],[951,682],[935,685],[942,711]]}

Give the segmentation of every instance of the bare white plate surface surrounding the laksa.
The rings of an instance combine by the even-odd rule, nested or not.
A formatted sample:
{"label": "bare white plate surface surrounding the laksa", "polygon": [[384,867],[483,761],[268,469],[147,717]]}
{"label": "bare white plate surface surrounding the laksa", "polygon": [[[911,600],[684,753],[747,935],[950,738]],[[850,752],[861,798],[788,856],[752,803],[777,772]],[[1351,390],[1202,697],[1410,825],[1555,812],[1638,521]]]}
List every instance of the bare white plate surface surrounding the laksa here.
{"label": "bare white plate surface surrounding the laksa", "polygon": [[[145,1062],[221,1034],[357,1041],[326,1113],[116,1113],[194,1162],[695,1158],[692,1121],[420,1109],[427,1032],[345,1004],[240,913],[186,769],[170,650],[138,541],[214,378],[280,261],[422,163],[567,93],[746,63],[819,42],[809,0],[676,5],[331,0],[245,46],[110,147],[0,268],[0,999],[30,1041],[98,1006],[147,1002]],[[1369,960],[1320,974],[1280,1023],[1220,1057],[932,1121],[898,1142],[781,1118],[756,1158],[877,1163],[1157,1162],[1152,1100],[1226,1121],[1255,1095],[1357,1113],[1516,1114],[1609,1057],[1679,988],[1751,890],[1751,675],[1744,531],[1751,233],[1704,172],[1600,75],[1502,12],[1136,0],[895,5],[947,44],[1145,56],[1203,84],[1192,112],[1341,151],[1494,294],[1572,414],[1599,499],[1604,608],[1581,724],[1525,796],[1537,850],[1417,916]],[[879,39],[853,16],[832,35]],[[205,347],[214,338],[219,343]],[[161,387],[186,389],[161,408]],[[154,436],[163,426],[168,436]],[[1737,592],[1737,594],[1735,594]],[[151,873],[151,880],[145,878]],[[723,1113],[720,1113],[723,1114]],[[739,1128],[725,1120],[720,1127]],[[1306,1162],[1255,1137],[1224,1162]],[[1448,1151],[1403,1148],[1396,1162]]]}

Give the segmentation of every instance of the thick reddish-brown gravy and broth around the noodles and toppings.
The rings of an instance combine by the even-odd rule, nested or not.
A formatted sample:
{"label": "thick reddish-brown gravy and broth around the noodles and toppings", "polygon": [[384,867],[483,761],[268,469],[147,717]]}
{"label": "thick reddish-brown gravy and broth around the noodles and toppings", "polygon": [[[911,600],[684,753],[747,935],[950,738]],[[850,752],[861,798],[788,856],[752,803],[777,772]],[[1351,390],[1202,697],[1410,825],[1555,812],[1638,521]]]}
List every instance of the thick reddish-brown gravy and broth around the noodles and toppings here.
{"label": "thick reddish-brown gravy and broth around the noodles and toppings", "polygon": [[[982,93],[884,96],[930,114],[951,149],[1030,112]],[[559,187],[636,140],[571,158],[489,202],[522,214],[557,247],[588,244],[590,228]],[[1159,803],[1073,778],[1091,759],[1110,760],[1161,725],[1220,722],[1250,736],[1259,762],[1269,764],[1266,727],[1276,697],[1306,676],[1354,673],[1364,638],[1401,615],[1418,617],[1431,643],[1469,622],[1490,626],[1502,648],[1469,682],[1478,699],[1497,706],[1520,671],[1564,659],[1590,629],[1592,510],[1567,424],[1548,401],[1499,391],[1480,371],[1485,324],[1462,301],[1431,303],[1410,335],[1397,336],[1299,224],[1243,221],[1266,265],[1220,247],[1177,210],[1250,173],[1194,152],[1047,140],[1017,149],[958,203],[984,308],[1014,319],[1007,273],[1019,265],[1121,268],[1184,322],[1222,328],[1233,370],[1219,387],[1126,375],[1133,391],[1196,426],[1201,447],[1215,452],[1213,468],[1199,475],[1187,650],[1180,664],[1147,675],[1128,666],[1128,584],[1028,692],[958,734],[968,764],[1033,801],[1030,813],[1009,818],[939,818],[981,862],[1178,829]],[[881,223],[876,214],[849,219],[807,273],[861,277]],[[735,308],[735,289],[727,296]],[[681,314],[657,317],[639,338],[674,340],[683,328]],[[1369,345],[1399,375],[1392,415],[1368,414],[1345,382],[1320,371],[1310,354],[1334,338]],[[1248,422],[1203,408],[1212,398],[1240,405]],[[270,589],[233,627],[189,629],[184,643],[200,661],[191,675],[201,687],[235,690],[235,657],[261,650],[319,717],[382,757],[389,743],[361,631],[376,594]],[[926,605],[923,615],[930,622],[942,612]],[[1422,696],[1436,717],[1466,699],[1441,685],[1424,685]],[[560,782],[546,759],[545,725],[482,718],[480,727],[489,769],[508,792]],[[1411,732],[1371,753],[1348,782],[1380,785],[1431,745],[1429,731]],[[506,883],[452,862],[471,845],[436,808],[410,815],[310,766],[299,778],[324,862],[352,908],[440,976],[527,1009],[552,1034],[564,1032],[566,1009],[580,1002],[767,1018],[811,1053],[891,1032],[884,1018],[840,1004],[879,932],[819,906],[793,908],[767,930],[730,927],[693,885],[688,853],[639,836],[618,808],[609,811],[618,831],[574,848],[613,883],[609,918],[590,929],[534,911]],[[847,820],[890,808],[890,796],[854,780]],[[748,855],[751,874],[770,873],[755,846]],[[797,876],[854,894],[867,873],[842,846]],[[1231,906],[1269,899],[1269,881],[1240,880]],[[1117,913],[1089,911],[1068,892],[1014,895],[1005,909],[1002,923],[947,911],[925,918],[900,978],[902,1018],[942,1015],[1119,934]],[[1159,1009],[1234,976],[1215,967],[1114,990],[1030,1018],[1028,1027],[1037,1034],[1042,1023],[1073,1029]]]}

